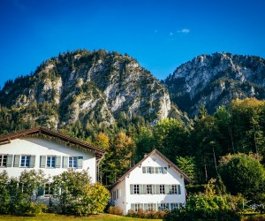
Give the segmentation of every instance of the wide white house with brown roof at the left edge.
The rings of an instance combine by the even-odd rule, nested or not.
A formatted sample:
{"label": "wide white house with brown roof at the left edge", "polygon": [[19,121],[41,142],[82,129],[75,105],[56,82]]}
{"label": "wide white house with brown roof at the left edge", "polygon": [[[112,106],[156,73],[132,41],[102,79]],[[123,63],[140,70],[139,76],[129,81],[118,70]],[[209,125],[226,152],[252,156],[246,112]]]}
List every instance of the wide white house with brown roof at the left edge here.
{"label": "wide white house with brown roof at the left edge", "polygon": [[0,172],[19,177],[21,171],[39,170],[47,178],[68,168],[88,169],[95,183],[102,149],[43,127],[0,136]]}

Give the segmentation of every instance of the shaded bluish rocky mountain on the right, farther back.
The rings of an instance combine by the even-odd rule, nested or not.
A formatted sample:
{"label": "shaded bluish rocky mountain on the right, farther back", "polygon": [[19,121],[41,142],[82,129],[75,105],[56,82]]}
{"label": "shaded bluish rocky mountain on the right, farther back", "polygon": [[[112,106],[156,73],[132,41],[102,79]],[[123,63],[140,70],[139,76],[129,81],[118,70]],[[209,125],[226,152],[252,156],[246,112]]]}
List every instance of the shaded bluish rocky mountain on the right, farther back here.
{"label": "shaded bluish rocky mountain on the right, farther back", "polygon": [[180,65],[165,81],[170,100],[190,117],[204,104],[208,113],[235,98],[265,99],[265,59],[214,53]]}

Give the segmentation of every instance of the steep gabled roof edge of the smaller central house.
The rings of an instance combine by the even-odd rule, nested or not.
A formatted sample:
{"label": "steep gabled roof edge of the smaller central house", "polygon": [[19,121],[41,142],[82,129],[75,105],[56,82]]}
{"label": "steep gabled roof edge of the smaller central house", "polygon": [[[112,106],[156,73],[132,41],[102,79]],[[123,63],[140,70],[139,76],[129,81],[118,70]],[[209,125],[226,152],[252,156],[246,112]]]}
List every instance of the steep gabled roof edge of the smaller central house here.
{"label": "steep gabled roof edge of the smaller central house", "polygon": [[181,171],[177,165],[173,164],[170,159],[168,159],[166,156],[163,156],[163,154],[158,151],[157,149],[154,149],[152,152],[150,152],[148,155],[146,155],[142,160],[140,160],[140,162],[138,164],[135,164],[129,171],[127,171],[122,177],[120,177],[119,179],[117,179],[117,181],[112,184],[109,188],[111,189],[112,187],[116,186],[117,183],[121,182],[123,179],[125,179],[125,177],[131,172],[133,171],[136,167],[138,167],[140,164],[142,164],[142,162],[144,162],[149,156],[152,156],[154,154],[157,154],[158,156],[160,156],[165,162],[167,162],[170,165],[170,168],[174,168],[175,171],[178,171],[186,180],[186,182],[191,183],[192,179],[190,179],[186,173],[184,171]]}

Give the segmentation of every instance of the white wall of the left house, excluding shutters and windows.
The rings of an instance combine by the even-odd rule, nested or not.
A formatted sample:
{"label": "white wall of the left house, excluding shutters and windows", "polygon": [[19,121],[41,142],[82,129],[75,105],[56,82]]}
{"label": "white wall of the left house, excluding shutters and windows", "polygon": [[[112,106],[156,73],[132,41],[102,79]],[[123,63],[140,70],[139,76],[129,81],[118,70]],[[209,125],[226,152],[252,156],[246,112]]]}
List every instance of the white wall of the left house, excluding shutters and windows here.
{"label": "white wall of the left house, excluding shutters and windows", "polygon": [[[11,143],[0,145],[0,154],[8,155],[34,155],[35,166],[34,168],[25,167],[0,167],[0,172],[7,171],[11,177],[19,177],[21,171],[32,169],[44,171],[47,177],[58,175],[63,171],[67,171],[67,168],[63,166],[63,156],[83,156],[83,167],[82,169],[76,169],[82,171],[88,169],[88,173],[91,177],[92,182],[96,181],[96,160],[90,152],[84,152],[81,149],[74,149],[68,146],[64,146],[57,141],[47,141],[42,138],[20,138],[11,140]],[[41,156],[62,156],[60,168],[40,168]]]}

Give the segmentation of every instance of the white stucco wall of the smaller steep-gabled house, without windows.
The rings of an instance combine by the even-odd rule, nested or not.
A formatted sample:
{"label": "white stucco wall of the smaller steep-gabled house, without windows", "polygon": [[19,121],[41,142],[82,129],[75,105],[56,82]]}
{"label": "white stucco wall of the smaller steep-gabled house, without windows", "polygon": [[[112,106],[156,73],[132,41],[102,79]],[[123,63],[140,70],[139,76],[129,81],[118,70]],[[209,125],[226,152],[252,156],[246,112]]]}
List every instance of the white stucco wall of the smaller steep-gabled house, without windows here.
{"label": "white stucco wall of the smaller steep-gabled house, without windows", "polygon": [[[167,167],[167,173],[143,173],[143,166],[151,167]],[[181,194],[131,194],[131,184],[143,184],[143,185],[180,185]],[[152,155],[142,162],[140,167],[136,167],[128,174],[120,183],[113,189],[125,187],[125,191],[122,191],[123,202],[117,201],[115,205],[123,208],[125,213],[131,209],[131,203],[184,203],[186,202],[186,191],[184,178],[181,174],[173,169],[169,168],[169,164],[165,162],[160,156]],[[124,194],[125,193],[125,194]],[[157,210],[157,208],[156,208]]]}

